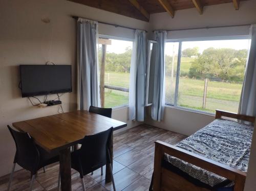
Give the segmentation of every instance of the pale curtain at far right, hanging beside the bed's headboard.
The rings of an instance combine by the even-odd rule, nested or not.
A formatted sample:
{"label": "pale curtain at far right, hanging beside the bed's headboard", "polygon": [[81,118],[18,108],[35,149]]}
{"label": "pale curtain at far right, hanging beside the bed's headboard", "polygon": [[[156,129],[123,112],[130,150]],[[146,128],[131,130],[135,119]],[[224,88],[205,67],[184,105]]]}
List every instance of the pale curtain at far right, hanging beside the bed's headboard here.
{"label": "pale curtain at far right, hanging beside the bed's headboard", "polygon": [[240,113],[256,115],[256,25],[251,25],[251,47],[245,70]]}

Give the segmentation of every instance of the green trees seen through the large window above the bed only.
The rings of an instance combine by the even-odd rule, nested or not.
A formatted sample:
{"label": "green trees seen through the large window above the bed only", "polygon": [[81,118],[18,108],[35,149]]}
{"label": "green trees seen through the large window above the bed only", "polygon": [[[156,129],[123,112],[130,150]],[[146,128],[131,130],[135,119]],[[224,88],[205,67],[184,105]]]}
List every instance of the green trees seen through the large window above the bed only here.
{"label": "green trees seen through the large window above the bed only", "polygon": [[[166,64],[172,64],[172,57],[167,57]],[[194,57],[194,59],[191,59],[188,73],[182,71],[181,62],[181,76],[195,79],[209,78],[219,81],[242,82],[244,80],[247,60],[247,50],[245,49],[215,49],[214,47],[209,47],[200,54],[199,48],[194,47],[193,49],[183,50],[182,57]],[[170,70],[170,67],[168,67],[168,70]]]}

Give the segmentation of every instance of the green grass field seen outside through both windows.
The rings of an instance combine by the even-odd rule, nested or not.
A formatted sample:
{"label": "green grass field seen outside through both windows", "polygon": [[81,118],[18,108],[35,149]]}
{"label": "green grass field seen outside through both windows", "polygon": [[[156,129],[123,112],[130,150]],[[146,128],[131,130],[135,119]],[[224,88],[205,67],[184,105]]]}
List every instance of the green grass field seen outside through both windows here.
{"label": "green grass field seen outside through both windows", "polygon": [[[193,58],[182,58],[181,73],[188,73]],[[129,73],[105,72],[105,84],[129,88]],[[166,103],[173,104],[175,79],[170,85],[170,77],[166,76]],[[242,83],[209,81],[207,86],[206,108],[203,106],[204,80],[180,77],[178,105],[191,109],[214,113],[216,109],[237,112],[239,107]],[[129,103],[129,93],[105,89],[105,107],[115,107]]]}

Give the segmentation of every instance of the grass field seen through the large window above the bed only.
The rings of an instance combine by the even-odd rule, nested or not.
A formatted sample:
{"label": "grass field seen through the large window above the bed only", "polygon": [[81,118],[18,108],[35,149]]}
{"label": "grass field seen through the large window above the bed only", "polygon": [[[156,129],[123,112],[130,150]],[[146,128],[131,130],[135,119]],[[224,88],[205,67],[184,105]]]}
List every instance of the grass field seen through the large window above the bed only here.
{"label": "grass field seen through the large window above the bed only", "polygon": [[[165,81],[166,103],[174,104],[176,81]],[[191,79],[180,77],[177,105],[191,109],[214,112],[224,109],[237,112],[243,82],[216,79]]]}

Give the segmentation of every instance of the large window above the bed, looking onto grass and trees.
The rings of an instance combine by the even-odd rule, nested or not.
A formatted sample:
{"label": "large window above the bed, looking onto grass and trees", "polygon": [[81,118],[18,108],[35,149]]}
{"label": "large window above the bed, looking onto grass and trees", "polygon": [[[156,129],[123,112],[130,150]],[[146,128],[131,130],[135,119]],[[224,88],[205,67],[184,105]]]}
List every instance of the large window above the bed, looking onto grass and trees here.
{"label": "large window above the bed, looking onto grass and trees", "polygon": [[249,44],[248,38],[166,42],[166,104],[238,112]]}

